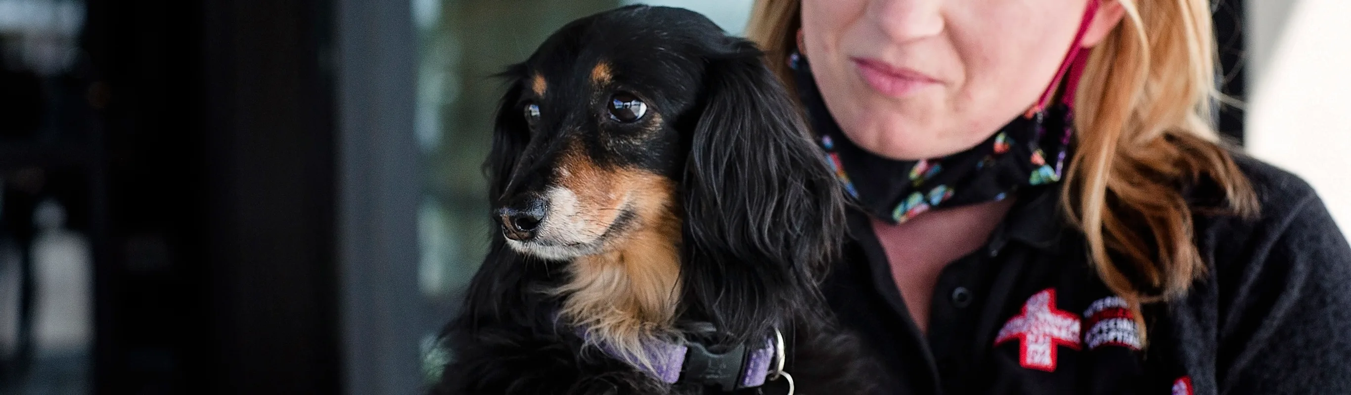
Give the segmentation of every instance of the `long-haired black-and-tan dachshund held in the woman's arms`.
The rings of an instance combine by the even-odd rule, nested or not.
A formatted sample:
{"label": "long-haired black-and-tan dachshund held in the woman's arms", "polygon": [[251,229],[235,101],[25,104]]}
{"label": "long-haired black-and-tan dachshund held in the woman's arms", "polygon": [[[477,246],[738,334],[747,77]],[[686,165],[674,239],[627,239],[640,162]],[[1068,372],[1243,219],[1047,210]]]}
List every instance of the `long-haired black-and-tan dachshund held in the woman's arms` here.
{"label": "long-haired black-and-tan dachshund held in the woman's arms", "polygon": [[501,233],[432,392],[865,391],[815,288],[843,197],[753,43],[624,7],[504,75],[485,163]]}

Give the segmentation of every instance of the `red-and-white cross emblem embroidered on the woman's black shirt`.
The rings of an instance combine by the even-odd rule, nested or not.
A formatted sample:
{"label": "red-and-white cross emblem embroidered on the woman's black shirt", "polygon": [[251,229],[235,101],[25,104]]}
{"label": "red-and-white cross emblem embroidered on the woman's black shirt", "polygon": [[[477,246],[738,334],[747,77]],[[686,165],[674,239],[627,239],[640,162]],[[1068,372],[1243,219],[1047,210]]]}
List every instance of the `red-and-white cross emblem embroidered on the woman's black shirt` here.
{"label": "red-and-white cross emblem embroidered on the woman's black shirt", "polygon": [[1004,324],[994,345],[1020,340],[1019,360],[1024,368],[1054,372],[1056,345],[1079,349],[1079,317],[1055,309],[1055,288],[1027,298],[1023,314]]}

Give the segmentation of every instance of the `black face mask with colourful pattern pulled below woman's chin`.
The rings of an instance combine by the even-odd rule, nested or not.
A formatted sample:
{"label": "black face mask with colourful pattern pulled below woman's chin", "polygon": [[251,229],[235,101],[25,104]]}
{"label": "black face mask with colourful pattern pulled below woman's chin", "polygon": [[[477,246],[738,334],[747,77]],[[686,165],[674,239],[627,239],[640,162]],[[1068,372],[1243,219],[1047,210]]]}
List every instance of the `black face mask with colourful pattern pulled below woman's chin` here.
{"label": "black face mask with colourful pattern pulled below woman's chin", "polygon": [[794,53],[789,66],[835,175],[878,220],[900,224],[929,209],[1000,201],[1019,187],[1061,181],[1074,125],[1063,101],[1009,121],[970,150],[924,160],[892,160],[844,138],[804,57]]}

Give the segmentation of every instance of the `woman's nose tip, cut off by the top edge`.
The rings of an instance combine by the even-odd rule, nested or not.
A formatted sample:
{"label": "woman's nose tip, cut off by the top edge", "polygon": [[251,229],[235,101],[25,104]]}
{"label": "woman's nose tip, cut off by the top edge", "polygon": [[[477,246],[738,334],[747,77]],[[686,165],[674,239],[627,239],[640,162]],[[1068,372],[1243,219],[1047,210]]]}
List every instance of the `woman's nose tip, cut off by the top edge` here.
{"label": "woman's nose tip, cut off by the top edge", "polygon": [[943,32],[943,0],[871,0],[867,15],[897,43]]}

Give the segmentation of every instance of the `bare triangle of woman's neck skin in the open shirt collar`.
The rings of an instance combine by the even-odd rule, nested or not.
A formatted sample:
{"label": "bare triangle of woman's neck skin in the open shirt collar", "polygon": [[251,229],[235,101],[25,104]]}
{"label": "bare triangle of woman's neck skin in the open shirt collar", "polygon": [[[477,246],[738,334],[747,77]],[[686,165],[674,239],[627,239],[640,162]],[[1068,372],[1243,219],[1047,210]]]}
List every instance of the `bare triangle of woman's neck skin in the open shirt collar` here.
{"label": "bare triangle of woman's neck skin in the open shirt collar", "polygon": [[939,272],[981,248],[1012,206],[1009,198],[931,210],[900,225],[873,220],[892,279],[921,332],[928,333],[929,302]]}

